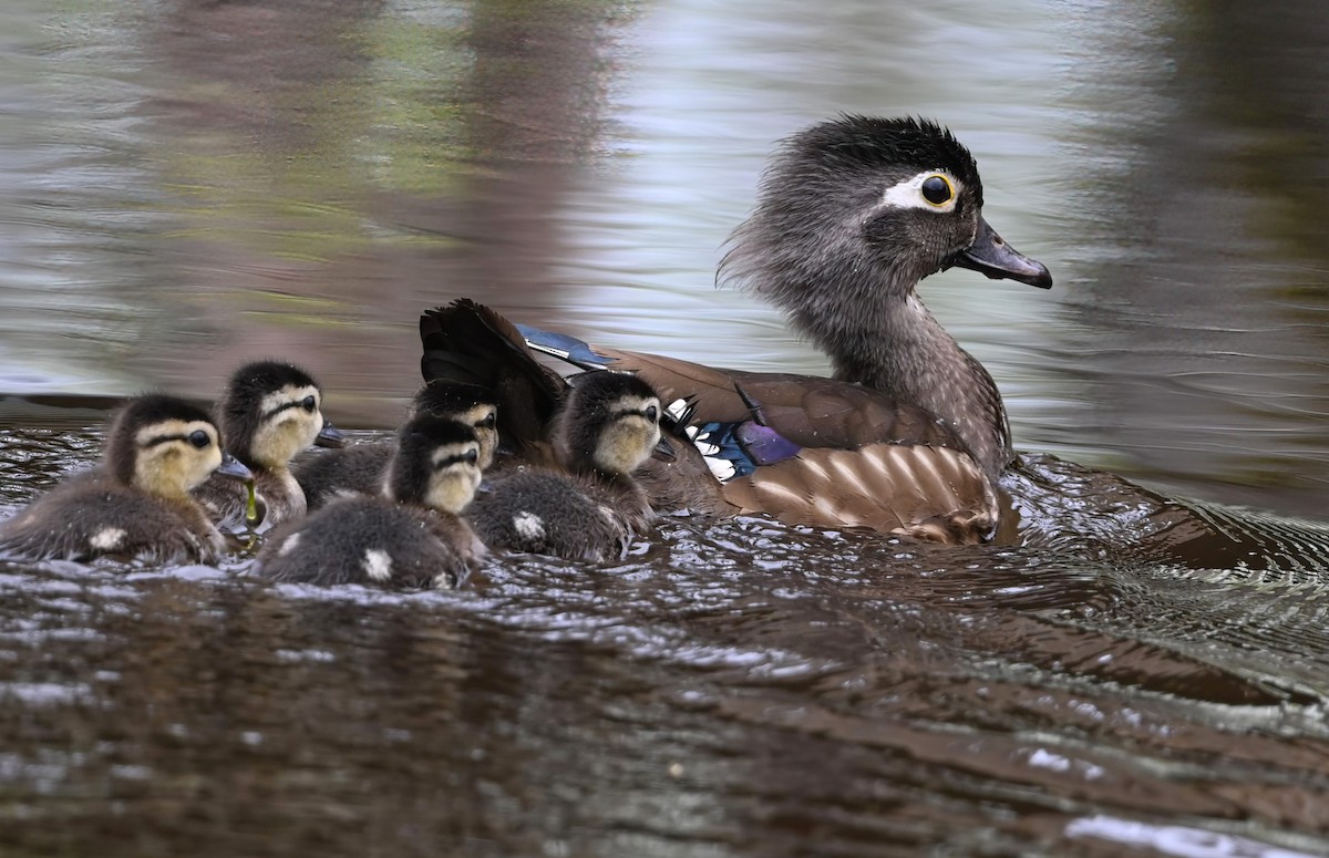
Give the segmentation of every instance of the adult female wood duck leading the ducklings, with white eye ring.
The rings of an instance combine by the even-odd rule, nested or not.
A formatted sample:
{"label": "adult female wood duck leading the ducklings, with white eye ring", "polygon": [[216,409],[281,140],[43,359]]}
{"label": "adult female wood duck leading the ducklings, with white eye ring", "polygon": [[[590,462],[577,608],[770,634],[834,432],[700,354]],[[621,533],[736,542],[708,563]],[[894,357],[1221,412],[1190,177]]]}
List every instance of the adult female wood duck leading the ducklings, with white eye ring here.
{"label": "adult female wood duck leading the ducklings, with white eye ring", "polygon": [[[916,287],[953,266],[1042,288],[1051,276],[997,235],[982,202],[973,157],[932,122],[844,116],[785,141],[720,279],[780,305],[833,379],[715,369],[520,325],[517,339],[582,369],[635,372],[671,404],[667,425],[687,442],[638,473],[658,509],[985,539],[1014,458],[1006,412]],[[512,325],[453,307],[468,307],[466,324],[421,320],[425,379],[506,375],[524,420],[548,420],[558,385],[526,365]],[[506,406],[500,397],[500,434]]]}

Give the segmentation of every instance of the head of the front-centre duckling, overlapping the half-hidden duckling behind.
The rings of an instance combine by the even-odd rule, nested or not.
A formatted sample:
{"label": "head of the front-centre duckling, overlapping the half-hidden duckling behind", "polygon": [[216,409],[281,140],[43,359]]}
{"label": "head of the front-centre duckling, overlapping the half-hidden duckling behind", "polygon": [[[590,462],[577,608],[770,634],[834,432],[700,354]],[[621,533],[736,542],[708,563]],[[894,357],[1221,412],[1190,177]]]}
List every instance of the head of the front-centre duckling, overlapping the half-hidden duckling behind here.
{"label": "head of the front-centre duckling, overlapping the half-hidden duckling behind", "polygon": [[397,430],[387,479],[392,499],[457,514],[480,477],[480,440],[465,422],[420,410]]}

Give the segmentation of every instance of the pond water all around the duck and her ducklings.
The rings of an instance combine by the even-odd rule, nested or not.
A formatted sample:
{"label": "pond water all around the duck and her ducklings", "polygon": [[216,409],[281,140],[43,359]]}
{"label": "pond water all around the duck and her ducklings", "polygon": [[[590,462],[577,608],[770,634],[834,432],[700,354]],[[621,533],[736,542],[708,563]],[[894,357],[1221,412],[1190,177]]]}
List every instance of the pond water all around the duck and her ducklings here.
{"label": "pond water all around the duck and her ducklings", "polygon": [[[949,124],[1051,294],[924,299],[1018,446],[1268,514],[1177,564],[667,522],[449,594],[0,566],[0,854],[1329,854],[1329,19],[1313,3],[134,0],[0,11],[0,505],[106,400],[419,311],[824,361],[712,272],[772,142]],[[1221,517],[1219,511],[1215,515]],[[1244,546],[1239,546],[1244,550]],[[1320,553],[1317,553],[1317,549]]]}

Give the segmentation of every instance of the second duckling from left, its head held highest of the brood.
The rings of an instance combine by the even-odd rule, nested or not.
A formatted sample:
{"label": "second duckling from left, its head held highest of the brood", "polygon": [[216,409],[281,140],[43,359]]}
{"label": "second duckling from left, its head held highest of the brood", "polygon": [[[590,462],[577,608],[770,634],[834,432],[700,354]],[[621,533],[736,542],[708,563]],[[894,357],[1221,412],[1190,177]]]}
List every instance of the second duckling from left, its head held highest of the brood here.
{"label": "second duckling from left, its head held highest of the brood", "polygon": [[291,475],[291,458],[315,442],[342,440],[323,418],[322,402],[318,383],[286,361],[253,361],[231,375],[217,404],[217,424],[229,449],[254,472],[260,510],[250,521],[247,486],[209,479],[194,497],[219,527],[271,526],[304,515],[304,491]]}

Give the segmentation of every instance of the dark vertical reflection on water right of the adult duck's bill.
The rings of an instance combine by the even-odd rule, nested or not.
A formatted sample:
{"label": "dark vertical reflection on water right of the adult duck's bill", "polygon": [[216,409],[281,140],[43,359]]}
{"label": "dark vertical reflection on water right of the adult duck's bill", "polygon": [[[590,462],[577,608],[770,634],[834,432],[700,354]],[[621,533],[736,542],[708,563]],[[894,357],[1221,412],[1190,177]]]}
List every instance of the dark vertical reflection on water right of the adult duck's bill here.
{"label": "dark vertical reflection on water right of the adult duck's bill", "polygon": [[1321,515],[1329,32],[1310,4],[1147,8],[1111,33],[1080,21],[1096,84],[1075,94],[1092,169],[1071,228],[1102,250],[1063,304],[1061,367],[1120,470]]}

